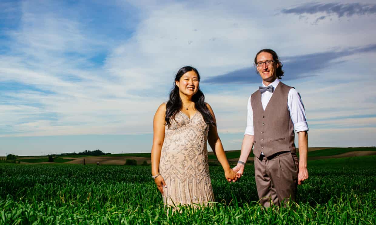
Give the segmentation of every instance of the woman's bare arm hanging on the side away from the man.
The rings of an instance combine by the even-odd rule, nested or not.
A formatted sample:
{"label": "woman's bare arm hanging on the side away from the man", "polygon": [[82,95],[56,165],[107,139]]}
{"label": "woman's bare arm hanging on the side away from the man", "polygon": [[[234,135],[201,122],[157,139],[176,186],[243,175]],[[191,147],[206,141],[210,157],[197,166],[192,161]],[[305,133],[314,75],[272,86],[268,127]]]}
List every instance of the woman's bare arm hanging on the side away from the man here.
{"label": "woman's bare arm hanging on the side away from the man", "polygon": [[[161,150],[165,135],[165,114],[166,104],[162,103],[154,115],[153,121],[153,147],[152,147],[152,175],[159,174],[159,160],[161,160]],[[154,179],[158,190],[163,194],[163,186],[166,186],[162,176],[158,176]]]}

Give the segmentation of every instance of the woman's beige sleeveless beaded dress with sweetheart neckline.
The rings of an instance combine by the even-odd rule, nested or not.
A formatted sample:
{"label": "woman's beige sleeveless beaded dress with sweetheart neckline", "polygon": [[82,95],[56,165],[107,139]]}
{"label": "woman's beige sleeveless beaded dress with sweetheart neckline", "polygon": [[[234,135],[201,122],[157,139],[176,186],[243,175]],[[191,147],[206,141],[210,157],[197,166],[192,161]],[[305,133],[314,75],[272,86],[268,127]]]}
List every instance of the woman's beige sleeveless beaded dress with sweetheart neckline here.
{"label": "woman's beige sleeveless beaded dress with sweetheart neckline", "polygon": [[179,111],[165,128],[159,173],[164,178],[165,205],[207,205],[214,201],[206,142],[209,126],[201,113],[190,119]]}

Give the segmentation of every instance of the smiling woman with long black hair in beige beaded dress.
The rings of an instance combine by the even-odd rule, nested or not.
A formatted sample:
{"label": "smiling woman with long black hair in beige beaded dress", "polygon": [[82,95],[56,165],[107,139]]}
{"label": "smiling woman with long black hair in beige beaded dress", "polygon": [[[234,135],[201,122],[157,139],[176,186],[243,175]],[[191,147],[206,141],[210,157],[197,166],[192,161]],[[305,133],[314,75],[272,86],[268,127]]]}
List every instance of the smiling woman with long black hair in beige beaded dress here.
{"label": "smiling woman with long black hair in beige beaded dress", "polygon": [[195,68],[179,69],[168,102],[162,103],[154,116],[152,176],[165,205],[207,205],[214,201],[206,141],[217,155],[226,179],[237,180],[199,82]]}

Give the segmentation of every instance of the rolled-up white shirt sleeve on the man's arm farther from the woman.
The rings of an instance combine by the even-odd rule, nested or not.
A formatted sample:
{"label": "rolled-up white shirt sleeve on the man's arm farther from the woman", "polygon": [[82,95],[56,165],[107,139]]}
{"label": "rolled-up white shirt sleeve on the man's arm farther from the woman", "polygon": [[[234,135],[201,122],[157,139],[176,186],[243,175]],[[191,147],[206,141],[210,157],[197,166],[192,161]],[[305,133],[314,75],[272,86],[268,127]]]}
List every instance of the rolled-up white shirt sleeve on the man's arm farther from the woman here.
{"label": "rolled-up white shirt sleeve on the man's arm farther from the woman", "polygon": [[304,105],[299,93],[294,88],[290,89],[288,92],[287,107],[290,111],[290,117],[291,121],[293,121],[295,132],[308,130]]}

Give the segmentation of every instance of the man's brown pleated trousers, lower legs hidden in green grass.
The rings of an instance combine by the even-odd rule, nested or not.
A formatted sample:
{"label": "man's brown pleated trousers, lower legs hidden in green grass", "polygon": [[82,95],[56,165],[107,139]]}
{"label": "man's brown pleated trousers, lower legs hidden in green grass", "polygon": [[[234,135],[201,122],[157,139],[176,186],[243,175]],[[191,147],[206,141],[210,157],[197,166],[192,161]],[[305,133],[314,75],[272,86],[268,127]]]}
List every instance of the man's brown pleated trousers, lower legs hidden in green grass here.
{"label": "man's brown pleated trousers, lower legs hidden in green grass", "polygon": [[[269,159],[255,157],[255,179],[260,204],[282,205],[284,199],[295,200],[299,161],[295,153],[275,154]],[[287,201],[285,200],[285,201]],[[287,203],[287,202],[285,202]]]}

